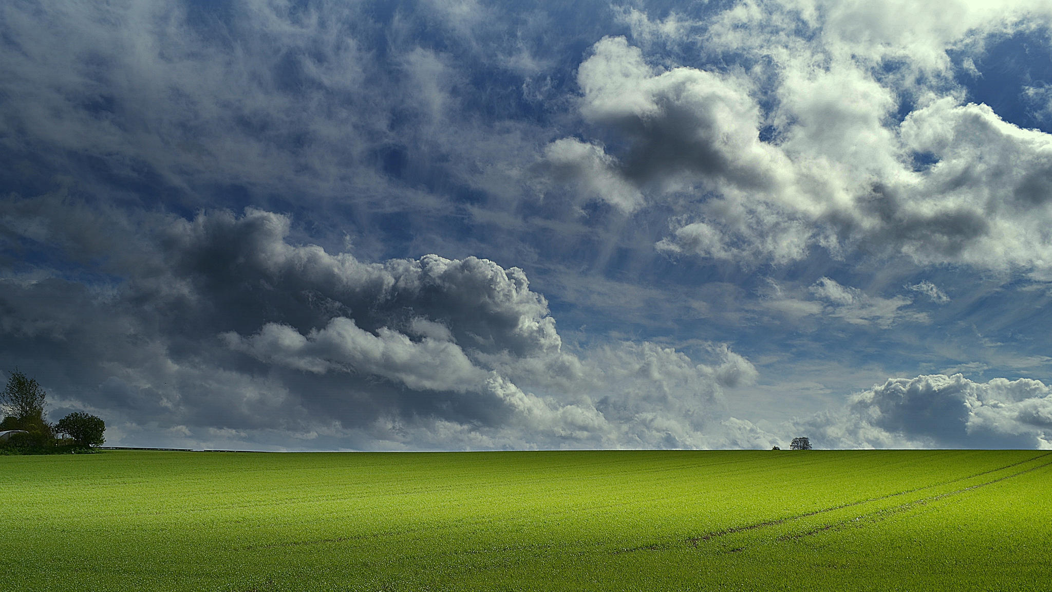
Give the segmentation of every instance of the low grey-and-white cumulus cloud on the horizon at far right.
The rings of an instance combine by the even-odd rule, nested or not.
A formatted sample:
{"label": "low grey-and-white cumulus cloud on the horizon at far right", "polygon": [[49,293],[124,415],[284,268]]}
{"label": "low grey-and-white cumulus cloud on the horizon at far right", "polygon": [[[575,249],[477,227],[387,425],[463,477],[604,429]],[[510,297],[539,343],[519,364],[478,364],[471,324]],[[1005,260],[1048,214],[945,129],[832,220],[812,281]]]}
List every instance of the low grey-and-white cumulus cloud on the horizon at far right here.
{"label": "low grey-and-white cumulus cloud on the horizon at far right", "polygon": [[1050,395],[1049,387],[1029,378],[890,378],[795,428],[828,448],[1052,449]]}

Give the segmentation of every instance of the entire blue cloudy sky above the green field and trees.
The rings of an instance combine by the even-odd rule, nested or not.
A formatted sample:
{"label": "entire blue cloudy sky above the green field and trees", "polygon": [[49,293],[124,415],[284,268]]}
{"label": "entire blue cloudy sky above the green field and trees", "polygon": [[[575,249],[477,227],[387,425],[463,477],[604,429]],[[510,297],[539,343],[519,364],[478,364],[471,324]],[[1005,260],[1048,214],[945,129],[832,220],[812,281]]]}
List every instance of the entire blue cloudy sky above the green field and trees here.
{"label": "entire blue cloudy sky above the green field and trees", "polygon": [[8,0],[0,371],[114,446],[1052,449],[1052,3]]}

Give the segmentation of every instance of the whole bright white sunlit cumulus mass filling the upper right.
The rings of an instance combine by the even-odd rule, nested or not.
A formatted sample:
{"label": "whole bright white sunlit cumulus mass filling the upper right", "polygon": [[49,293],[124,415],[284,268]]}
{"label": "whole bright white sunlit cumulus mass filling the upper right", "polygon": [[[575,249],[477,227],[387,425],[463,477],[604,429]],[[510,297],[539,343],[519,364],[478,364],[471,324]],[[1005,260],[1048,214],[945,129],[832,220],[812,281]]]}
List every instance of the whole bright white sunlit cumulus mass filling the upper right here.
{"label": "whole bright white sunlit cumulus mass filling the upper right", "polygon": [[[665,252],[749,267],[822,249],[1040,272],[1052,261],[1041,230],[1052,136],[966,104],[948,52],[1048,14],[959,8],[959,20],[922,6],[903,19],[892,3],[757,2],[720,12],[704,32],[662,29],[737,68],[666,70],[605,38],[579,68],[580,113],[618,147],[573,141],[596,151],[606,184],[615,173],[648,203],[700,196],[658,242]],[[641,41],[653,35],[645,15],[626,15]],[[917,167],[918,155],[934,163]]]}

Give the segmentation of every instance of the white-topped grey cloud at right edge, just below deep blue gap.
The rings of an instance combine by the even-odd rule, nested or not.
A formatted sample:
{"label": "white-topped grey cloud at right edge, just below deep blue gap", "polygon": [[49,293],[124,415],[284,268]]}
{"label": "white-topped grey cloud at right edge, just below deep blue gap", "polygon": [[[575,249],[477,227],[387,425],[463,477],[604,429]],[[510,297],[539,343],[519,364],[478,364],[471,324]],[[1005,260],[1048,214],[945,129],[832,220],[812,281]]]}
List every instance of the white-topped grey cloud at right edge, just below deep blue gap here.
{"label": "white-topped grey cloud at right edge, just below deep blue gap", "polygon": [[1047,267],[1041,229],[1052,195],[1045,186],[1052,136],[1007,123],[987,105],[949,99],[911,113],[902,135],[936,160],[897,206],[904,250],[924,261],[952,256],[993,269]]}

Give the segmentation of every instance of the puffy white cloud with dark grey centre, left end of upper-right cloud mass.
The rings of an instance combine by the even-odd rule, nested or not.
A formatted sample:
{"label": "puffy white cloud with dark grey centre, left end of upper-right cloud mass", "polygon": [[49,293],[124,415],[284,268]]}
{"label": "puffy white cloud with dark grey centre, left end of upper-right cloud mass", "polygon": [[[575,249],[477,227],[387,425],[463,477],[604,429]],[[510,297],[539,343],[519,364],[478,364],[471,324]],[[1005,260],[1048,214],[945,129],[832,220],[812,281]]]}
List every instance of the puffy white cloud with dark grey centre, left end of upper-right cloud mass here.
{"label": "puffy white cloud with dark grey centre, left end of upper-right cloud mass", "polygon": [[623,37],[604,38],[593,51],[578,70],[581,114],[627,137],[625,178],[668,186],[699,175],[743,191],[782,182],[784,158],[757,137],[747,82],[688,67],[655,73]]}

